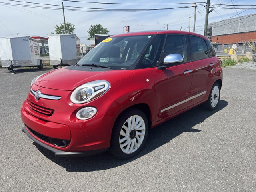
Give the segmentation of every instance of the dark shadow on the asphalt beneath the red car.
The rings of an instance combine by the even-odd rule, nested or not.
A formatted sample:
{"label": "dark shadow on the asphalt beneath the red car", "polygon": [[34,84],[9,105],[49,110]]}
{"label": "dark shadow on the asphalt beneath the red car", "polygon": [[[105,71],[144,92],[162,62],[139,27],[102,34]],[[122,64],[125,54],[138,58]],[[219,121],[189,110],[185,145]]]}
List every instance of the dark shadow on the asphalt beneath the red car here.
{"label": "dark shadow on the asphalt beneath the red car", "polygon": [[68,172],[106,170],[121,166],[140,158],[141,156],[144,156],[160,146],[170,142],[173,138],[176,138],[183,132],[200,132],[201,130],[193,129],[193,127],[204,122],[204,120],[212,116],[214,113],[222,110],[227,105],[227,101],[220,100],[219,106],[215,111],[207,111],[202,109],[201,106],[198,106],[156,126],[149,131],[148,138],[142,152],[140,152],[140,154],[134,158],[128,160],[120,160],[108,152],[88,157],[61,158],[54,156],[52,152],[42,148],[39,145],[36,145],[36,147],[44,156],[59,166],[62,166]]}

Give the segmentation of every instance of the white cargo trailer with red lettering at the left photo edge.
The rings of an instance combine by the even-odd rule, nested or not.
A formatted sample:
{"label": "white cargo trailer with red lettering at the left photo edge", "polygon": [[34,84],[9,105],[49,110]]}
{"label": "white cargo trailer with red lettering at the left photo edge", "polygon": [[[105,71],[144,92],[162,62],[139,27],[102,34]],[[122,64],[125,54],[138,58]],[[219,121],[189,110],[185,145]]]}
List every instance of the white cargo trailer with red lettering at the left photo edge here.
{"label": "white cargo trailer with red lettering at the left photo edge", "polygon": [[43,68],[39,42],[31,37],[0,37],[2,67],[12,70],[18,67]]}

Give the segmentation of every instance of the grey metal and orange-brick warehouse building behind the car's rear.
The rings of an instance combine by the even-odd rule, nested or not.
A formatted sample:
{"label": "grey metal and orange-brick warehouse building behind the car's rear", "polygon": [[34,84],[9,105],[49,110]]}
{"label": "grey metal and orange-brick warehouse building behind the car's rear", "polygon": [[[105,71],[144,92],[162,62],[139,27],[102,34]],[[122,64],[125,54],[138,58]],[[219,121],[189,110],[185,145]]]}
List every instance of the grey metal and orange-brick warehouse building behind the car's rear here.
{"label": "grey metal and orange-brick warehouse building behind the car's rear", "polygon": [[238,53],[252,51],[256,46],[256,14],[240,16],[208,24],[207,37],[216,51],[237,46]]}

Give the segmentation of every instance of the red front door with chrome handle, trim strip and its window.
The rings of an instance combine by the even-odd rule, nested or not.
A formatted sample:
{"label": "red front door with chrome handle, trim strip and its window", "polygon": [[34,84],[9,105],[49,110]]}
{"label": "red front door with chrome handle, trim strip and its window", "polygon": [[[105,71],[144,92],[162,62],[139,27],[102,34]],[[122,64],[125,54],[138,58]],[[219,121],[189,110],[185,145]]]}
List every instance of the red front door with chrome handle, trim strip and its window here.
{"label": "red front door with chrome handle, trim strip and its window", "polygon": [[182,55],[184,62],[164,70],[154,69],[156,121],[168,118],[187,108],[190,101],[192,62],[188,62],[184,35],[167,36],[163,57],[174,53]]}

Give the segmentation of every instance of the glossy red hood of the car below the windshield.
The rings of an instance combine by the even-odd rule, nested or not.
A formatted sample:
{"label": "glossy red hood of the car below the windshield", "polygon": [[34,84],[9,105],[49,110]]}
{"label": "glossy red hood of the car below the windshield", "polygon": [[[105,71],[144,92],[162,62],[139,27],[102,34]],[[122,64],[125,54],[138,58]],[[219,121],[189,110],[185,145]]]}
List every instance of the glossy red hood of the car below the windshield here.
{"label": "glossy red hood of the car below the windshield", "polygon": [[34,83],[40,87],[56,90],[74,90],[78,86],[94,80],[114,83],[132,75],[133,70],[110,70],[94,67],[69,66],[48,72]]}

